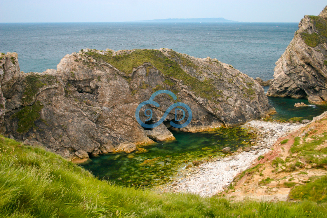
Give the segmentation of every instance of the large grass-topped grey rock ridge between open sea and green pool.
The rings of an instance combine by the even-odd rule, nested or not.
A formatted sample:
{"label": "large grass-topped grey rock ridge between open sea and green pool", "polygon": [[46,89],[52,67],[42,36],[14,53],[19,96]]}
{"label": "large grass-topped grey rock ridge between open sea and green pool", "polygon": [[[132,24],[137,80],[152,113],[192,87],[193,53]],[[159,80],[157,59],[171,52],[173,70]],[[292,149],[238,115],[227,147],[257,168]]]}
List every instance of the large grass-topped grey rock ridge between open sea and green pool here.
{"label": "large grass-topped grey rock ridge between open sea and green pool", "polygon": [[[156,123],[175,102],[192,109],[191,123],[181,131],[199,132],[236,126],[265,117],[274,109],[262,87],[232,66],[199,59],[171,49],[98,51],[66,55],[57,70],[20,72],[17,54],[0,56],[0,122],[2,134],[38,144],[67,159],[133,151],[153,140],[172,140],[170,121],[182,124],[172,109],[163,124],[145,129],[135,119],[137,106],[157,90],[160,94],[140,111],[152,109],[147,124]],[[176,111],[176,115],[175,115]]]}

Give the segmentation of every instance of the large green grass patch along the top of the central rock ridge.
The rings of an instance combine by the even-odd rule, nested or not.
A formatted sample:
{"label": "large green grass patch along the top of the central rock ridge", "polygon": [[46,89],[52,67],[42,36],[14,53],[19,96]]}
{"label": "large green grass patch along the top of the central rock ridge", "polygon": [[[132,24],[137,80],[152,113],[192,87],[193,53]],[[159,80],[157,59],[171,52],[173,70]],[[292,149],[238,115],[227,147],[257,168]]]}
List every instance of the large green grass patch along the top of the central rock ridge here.
{"label": "large green grass patch along the top of the central rock ridge", "polygon": [[166,77],[165,79],[169,80],[169,77],[173,77],[181,80],[184,85],[188,86],[194,94],[199,97],[214,101],[221,97],[213,84],[201,81],[189,75],[181,68],[180,64],[194,69],[196,69],[197,66],[177,52],[170,52],[171,59],[164,56],[162,52],[153,49],[136,50],[120,56],[99,55],[92,52],[85,54],[92,56],[98,61],[110,63],[118,70],[125,73],[127,77],[132,73],[133,68],[143,65],[145,62],[149,62],[163,73]]}

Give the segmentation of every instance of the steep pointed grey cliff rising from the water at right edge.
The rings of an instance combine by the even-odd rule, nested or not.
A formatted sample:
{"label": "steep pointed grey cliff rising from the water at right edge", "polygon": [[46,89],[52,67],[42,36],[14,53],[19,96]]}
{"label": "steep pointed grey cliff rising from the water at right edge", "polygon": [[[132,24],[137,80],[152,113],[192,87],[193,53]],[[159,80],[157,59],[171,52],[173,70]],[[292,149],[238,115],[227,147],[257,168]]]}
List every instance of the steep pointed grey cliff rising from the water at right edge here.
{"label": "steep pointed grey cliff rising from the water at right edge", "polygon": [[327,6],[299,23],[293,40],[276,62],[268,96],[327,101]]}

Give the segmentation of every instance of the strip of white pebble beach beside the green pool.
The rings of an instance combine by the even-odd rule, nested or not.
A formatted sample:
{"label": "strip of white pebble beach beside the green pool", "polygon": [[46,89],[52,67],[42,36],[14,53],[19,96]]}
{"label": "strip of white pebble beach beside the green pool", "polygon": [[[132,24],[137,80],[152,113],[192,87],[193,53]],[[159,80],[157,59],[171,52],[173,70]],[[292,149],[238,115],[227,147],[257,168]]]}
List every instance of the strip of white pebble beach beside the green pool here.
{"label": "strip of white pebble beach beside the green pool", "polygon": [[173,185],[166,184],[168,189],[172,192],[198,193],[201,196],[220,193],[231,184],[236,175],[250,168],[252,162],[260,155],[269,152],[278,138],[301,128],[303,124],[253,120],[243,125],[243,127],[249,126],[257,129],[259,142],[253,140],[252,142],[256,142],[255,145],[251,148],[247,147],[235,156],[221,157],[189,169],[191,173],[184,175],[183,180],[173,178]]}

